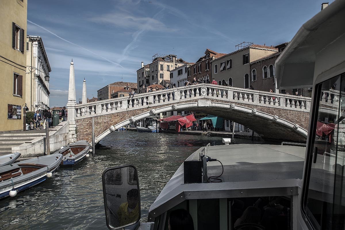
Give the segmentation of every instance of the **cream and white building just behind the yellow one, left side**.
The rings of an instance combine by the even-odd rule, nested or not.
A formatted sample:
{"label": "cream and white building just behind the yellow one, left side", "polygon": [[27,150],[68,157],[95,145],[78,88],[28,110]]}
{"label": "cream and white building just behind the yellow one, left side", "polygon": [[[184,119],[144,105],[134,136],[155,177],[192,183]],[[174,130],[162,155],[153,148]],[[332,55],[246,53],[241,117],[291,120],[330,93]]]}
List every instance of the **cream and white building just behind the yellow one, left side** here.
{"label": "cream and white building just behind the yellow one, left side", "polygon": [[[29,111],[49,108],[49,73],[51,72],[48,56],[39,36],[26,38],[26,104]],[[48,81],[47,81],[48,80]]]}

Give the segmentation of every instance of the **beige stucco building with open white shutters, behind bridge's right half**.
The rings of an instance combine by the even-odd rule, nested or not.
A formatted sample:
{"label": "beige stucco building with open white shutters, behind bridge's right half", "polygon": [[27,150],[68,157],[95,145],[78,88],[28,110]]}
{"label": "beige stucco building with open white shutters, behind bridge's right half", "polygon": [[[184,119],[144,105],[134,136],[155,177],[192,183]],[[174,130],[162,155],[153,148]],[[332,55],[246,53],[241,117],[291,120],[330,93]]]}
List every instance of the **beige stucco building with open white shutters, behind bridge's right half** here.
{"label": "beige stucco building with open white shutters, behind bridge's right half", "polygon": [[241,44],[236,46],[236,51],[211,61],[212,78],[215,78],[218,84],[249,88],[251,85],[249,63],[278,51],[273,46]]}

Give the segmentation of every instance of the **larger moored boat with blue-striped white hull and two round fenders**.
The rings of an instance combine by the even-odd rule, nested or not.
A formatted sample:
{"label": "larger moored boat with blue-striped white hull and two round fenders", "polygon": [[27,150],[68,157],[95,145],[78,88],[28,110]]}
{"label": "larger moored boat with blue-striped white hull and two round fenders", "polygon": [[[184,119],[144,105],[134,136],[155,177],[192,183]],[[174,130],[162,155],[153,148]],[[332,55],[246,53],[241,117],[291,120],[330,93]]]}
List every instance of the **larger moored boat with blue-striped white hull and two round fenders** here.
{"label": "larger moored boat with blue-striped white hull and two round fenders", "polygon": [[0,199],[14,197],[18,192],[37,185],[59,167],[61,154],[41,156],[0,168]]}

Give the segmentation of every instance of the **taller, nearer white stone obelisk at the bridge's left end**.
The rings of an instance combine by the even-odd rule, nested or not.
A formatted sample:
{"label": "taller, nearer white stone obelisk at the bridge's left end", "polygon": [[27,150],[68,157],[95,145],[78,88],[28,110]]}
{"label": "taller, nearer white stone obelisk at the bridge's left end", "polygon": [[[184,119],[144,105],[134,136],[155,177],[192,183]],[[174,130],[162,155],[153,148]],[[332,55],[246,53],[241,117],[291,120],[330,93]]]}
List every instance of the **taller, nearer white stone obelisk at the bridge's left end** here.
{"label": "taller, nearer white stone obelisk at the bridge's left end", "polygon": [[69,85],[68,85],[68,102],[67,102],[67,118],[69,122],[69,143],[77,141],[76,132],[76,84],[74,77],[74,66],[73,60],[69,67]]}

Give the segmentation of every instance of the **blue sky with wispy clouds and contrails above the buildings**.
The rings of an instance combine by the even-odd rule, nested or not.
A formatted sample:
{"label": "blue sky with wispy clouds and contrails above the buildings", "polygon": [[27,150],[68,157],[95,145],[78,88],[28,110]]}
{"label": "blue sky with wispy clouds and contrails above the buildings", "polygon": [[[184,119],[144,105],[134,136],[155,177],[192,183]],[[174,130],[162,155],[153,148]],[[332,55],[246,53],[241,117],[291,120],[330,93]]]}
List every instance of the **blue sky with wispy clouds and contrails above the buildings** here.
{"label": "blue sky with wispy clouds and contrails above the buildings", "polygon": [[[67,103],[69,66],[76,95],[84,77],[87,96],[109,83],[136,82],[141,62],[174,53],[196,62],[209,48],[230,53],[243,41],[290,41],[321,10],[322,1],[28,1],[28,35],[41,36],[52,69],[50,107]],[[55,35],[54,35],[55,34]],[[60,37],[60,38],[58,38]]]}

